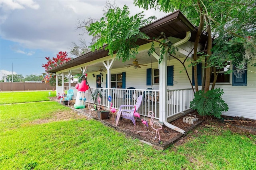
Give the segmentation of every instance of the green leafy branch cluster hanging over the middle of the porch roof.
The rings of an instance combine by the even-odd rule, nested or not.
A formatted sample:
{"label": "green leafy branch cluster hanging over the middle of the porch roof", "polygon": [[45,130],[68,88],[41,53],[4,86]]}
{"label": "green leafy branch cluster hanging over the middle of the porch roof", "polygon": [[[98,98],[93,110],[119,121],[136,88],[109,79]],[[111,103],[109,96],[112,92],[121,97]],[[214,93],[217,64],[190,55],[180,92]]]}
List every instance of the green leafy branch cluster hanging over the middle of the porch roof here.
{"label": "green leafy branch cluster hanging over the middle of the porch roof", "polygon": [[122,62],[135,58],[139,47],[136,41],[149,39],[146,34],[140,32],[139,28],[154,19],[154,17],[150,17],[145,20],[144,16],[143,12],[130,16],[127,6],[124,6],[123,9],[119,7],[109,9],[100,21],[86,26],[89,35],[100,37],[89,48],[94,51],[108,44],[106,47],[106,50],[109,50],[108,55],[113,56],[116,53],[116,58],[118,60],[122,58]]}

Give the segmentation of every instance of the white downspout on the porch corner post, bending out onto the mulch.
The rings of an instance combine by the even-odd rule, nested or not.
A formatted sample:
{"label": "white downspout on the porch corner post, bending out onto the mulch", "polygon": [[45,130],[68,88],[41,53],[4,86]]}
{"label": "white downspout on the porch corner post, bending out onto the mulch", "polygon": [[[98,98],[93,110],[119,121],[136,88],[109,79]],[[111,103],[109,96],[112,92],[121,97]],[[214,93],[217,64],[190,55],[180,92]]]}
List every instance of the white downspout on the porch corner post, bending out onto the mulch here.
{"label": "white downspout on the porch corner post, bending out onto the mulch", "polygon": [[[186,37],[184,38],[184,39],[182,39],[182,40],[180,40],[180,41],[178,41],[178,42],[176,42],[176,43],[174,43],[172,46],[173,47],[177,47],[177,46],[180,46],[181,44],[184,44],[184,43],[186,43],[189,39],[190,39],[190,37],[191,37],[191,32],[190,31],[188,31],[187,33],[186,33]],[[163,63],[163,67],[167,67],[167,64],[166,64],[166,62],[167,62],[167,58],[166,58],[166,56],[165,56],[165,60],[163,61],[164,63]],[[164,82],[166,82],[166,74],[164,74],[165,75],[165,81]],[[167,98],[166,98],[166,84],[165,85],[163,85],[163,87],[165,88],[165,89],[163,89],[163,101],[162,101],[162,104],[164,105],[164,112],[163,112],[163,114],[162,114],[162,116],[163,116],[163,123],[164,123],[164,125],[165,126],[167,126],[168,128],[171,128],[171,129],[173,129],[173,130],[176,130],[177,132],[180,132],[180,133],[182,133],[182,134],[185,134],[186,132],[184,131],[184,130],[182,130],[182,129],[180,129],[180,128],[178,128],[177,126],[174,126],[174,125],[172,125],[172,124],[170,124],[168,121],[167,121],[167,115],[166,115],[166,101],[167,101]]]}

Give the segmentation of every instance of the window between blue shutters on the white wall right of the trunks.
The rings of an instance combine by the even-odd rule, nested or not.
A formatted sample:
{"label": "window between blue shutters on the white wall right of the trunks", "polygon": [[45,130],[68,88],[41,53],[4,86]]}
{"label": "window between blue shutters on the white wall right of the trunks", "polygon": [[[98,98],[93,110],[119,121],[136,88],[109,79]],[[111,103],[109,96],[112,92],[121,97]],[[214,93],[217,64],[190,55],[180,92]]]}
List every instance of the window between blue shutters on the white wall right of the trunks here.
{"label": "window between blue shutters on the white wall right of the trunks", "polygon": [[[224,68],[220,68],[217,69],[216,72],[218,73],[218,71],[220,71],[218,73],[217,76],[217,81],[216,83],[230,83],[230,74],[226,74],[226,72],[229,70],[230,68],[230,62],[226,62],[225,64],[226,66]],[[212,83],[214,80],[214,74],[212,72],[211,78],[210,78],[210,82]]]}

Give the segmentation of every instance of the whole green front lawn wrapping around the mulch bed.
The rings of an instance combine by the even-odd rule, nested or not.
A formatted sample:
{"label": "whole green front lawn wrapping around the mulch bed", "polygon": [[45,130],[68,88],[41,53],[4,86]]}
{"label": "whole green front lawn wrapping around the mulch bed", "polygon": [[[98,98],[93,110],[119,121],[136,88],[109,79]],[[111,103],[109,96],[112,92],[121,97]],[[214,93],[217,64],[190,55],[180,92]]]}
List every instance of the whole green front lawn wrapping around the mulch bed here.
{"label": "whole green front lawn wrapping around the mulch bed", "polygon": [[[40,96],[37,93],[41,92],[26,95]],[[1,93],[1,100],[2,94],[5,93]],[[9,94],[12,98],[12,93]],[[22,96],[19,99],[24,101]],[[63,118],[56,118],[59,114]],[[70,118],[65,119],[67,116]],[[256,136],[248,138],[212,127],[198,128],[196,135],[189,132],[184,144],[162,151],[77,115],[57,102],[0,105],[0,169],[252,170],[256,167]]]}

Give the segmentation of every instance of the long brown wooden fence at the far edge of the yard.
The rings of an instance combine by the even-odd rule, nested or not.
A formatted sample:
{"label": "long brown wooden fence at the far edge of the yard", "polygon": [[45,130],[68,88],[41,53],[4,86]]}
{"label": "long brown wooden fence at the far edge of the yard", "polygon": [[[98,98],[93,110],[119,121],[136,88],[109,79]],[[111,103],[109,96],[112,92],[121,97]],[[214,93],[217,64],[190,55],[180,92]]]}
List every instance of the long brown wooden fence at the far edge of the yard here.
{"label": "long brown wooden fence at the far edge of the yard", "polygon": [[[75,86],[76,83],[72,83]],[[68,83],[64,83],[68,86]],[[49,83],[42,82],[0,82],[0,91],[22,91],[22,90],[56,90],[56,86],[52,87]]]}

